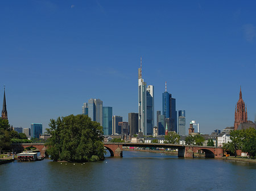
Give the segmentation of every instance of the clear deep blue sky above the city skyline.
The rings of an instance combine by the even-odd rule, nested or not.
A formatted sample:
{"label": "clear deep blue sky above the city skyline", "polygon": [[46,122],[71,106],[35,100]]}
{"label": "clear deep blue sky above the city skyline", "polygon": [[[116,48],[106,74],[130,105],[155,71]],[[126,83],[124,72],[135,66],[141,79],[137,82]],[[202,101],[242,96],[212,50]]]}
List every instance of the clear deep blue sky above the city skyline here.
{"label": "clear deep blue sky above the city skyline", "polygon": [[[98,98],[127,121],[138,112],[138,67],[176,98],[202,133],[233,126],[242,86],[256,112],[255,1],[1,1],[0,103],[10,124],[48,128]],[[2,109],[2,108],[1,108]],[[187,130],[188,131],[188,130]]]}

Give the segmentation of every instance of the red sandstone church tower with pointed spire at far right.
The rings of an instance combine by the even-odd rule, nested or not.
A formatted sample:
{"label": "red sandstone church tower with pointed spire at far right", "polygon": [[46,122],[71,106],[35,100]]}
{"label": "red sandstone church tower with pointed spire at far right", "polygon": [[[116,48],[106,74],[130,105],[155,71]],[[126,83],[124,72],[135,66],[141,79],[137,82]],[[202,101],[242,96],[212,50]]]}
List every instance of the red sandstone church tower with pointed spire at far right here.
{"label": "red sandstone church tower with pointed spire at far right", "polygon": [[239,100],[237,101],[237,107],[235,109],[234,130],[237,130],[238,126],[242,122],[248,122],[248,121],[247,121],[247,107],[245,107],[245,103],[243,102],[242,91],[240,86]]}

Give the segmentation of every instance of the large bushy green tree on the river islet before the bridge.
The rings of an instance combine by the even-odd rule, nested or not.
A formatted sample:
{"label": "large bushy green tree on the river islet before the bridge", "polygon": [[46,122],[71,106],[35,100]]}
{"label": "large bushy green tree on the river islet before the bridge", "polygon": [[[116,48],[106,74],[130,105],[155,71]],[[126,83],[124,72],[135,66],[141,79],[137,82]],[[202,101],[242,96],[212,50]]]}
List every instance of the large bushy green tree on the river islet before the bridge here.
{"label": "large bushy green tree on the river islet before the bridge", "polygon": [[104,159],[102,127],[87,115],[71,114],[51,119],[49,127],[47,133],[52,137],[46,145],[52,160],[88,162]]}

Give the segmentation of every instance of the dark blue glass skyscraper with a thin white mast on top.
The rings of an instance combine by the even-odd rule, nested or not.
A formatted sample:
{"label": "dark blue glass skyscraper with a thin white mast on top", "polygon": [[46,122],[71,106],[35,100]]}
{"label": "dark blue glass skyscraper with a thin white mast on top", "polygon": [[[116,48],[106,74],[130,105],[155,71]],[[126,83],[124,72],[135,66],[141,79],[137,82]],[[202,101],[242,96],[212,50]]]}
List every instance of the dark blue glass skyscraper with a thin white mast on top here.
{"label": "dark blue glass skyscraper with a thin white mast on top", "polygon": [[176,131],[177,132],[177,112],[176,112],[176,99],[172,98],[172,95],[167,92],[163,92],[163,115],[166,117],[166,121],[168,122],[168,131]]}

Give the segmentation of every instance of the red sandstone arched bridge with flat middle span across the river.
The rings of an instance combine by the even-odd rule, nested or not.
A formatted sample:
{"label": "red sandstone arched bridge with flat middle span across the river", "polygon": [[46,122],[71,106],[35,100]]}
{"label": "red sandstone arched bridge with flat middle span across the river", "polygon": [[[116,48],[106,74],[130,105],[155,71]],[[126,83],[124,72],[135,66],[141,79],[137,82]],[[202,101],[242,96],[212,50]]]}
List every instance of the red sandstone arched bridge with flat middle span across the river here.
{"label": "red sandstone arched bridge with flat middle span across the river", "polygon": [[[16,143],[13,147],[17,151],[23,151],[26,147],[37,148],[41,155],[46,154],[47,147],[44,143]],[[205,152],[206,158],[221,158],[223,156],[223,149],[207,146],[189,146],[189,145],[174,145],[174,144],[160,144],[160,143],[104,143],[104,146],[109,150],[110,156],[123,156],[123,147],[150,147],[150,148],[173,148],[178,149],[178,156],[184,158],[193,158],[194,153],[199,150]]]}

